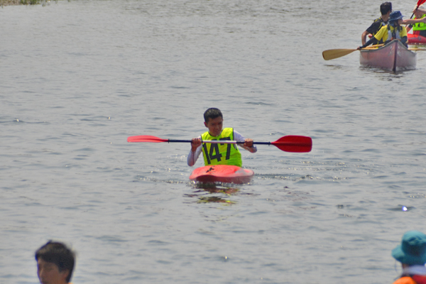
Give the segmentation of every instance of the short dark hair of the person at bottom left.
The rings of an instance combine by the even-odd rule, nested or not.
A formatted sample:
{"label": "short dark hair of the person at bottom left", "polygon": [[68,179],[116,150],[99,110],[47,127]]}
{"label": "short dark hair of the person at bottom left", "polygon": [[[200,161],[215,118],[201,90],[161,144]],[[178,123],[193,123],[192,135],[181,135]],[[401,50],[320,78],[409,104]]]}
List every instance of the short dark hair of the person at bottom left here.
{"label": "short dark hair of the person at bottom left", "polygon": [[67,282],[70,282],[72,271],[74,270],[75,253],[65,246],[65,244],[48,241],[44,246],[35,251],[35,261],[38,258],[43,261],[50,262],[58,266],[59,271],[67,269],[68,273]]}

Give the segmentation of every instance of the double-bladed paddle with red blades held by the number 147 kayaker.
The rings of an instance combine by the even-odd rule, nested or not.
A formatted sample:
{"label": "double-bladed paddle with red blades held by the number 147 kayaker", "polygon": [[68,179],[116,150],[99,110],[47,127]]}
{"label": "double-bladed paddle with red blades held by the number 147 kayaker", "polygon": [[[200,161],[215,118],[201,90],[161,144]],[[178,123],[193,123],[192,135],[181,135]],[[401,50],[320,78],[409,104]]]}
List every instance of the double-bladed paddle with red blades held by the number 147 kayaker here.
{"label": "double-bladed paddle with red blades held by the number 147 kayaker", "polygon": [[[191,143],[191,140],[173,140],[162,139],[150,135],[130,136],[127,142],[151,142],[151,143]],[[217,144],[244,144],[244,141],[226,141],[226,140],[204,140],[202,143],[217,143]],[[275,142],[253,142],[253,144],[273,145],[285,152],[305,153],[312,150],[312,138],[307,136],[283,136]]]}

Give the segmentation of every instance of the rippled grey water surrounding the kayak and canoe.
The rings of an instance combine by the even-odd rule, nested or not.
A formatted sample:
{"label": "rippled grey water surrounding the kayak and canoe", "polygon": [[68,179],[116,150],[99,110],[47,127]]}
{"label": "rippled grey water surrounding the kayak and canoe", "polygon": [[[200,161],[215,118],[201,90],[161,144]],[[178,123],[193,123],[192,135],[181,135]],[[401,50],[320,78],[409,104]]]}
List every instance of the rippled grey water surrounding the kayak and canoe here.
{"label": "rippled grey water surrounding the kayak and canoe", "polygon": [[[49,239],[73,283],[391,283],[426,231],[426,53],[359,66],[380,1],[51,1],[0,9],[0,283],[38,283]],[[415,1],[394,3],[410,16]],[[248,185],[190,182],[209,107],[255,141]],[[199,160],[196,166],[201,166]]]}

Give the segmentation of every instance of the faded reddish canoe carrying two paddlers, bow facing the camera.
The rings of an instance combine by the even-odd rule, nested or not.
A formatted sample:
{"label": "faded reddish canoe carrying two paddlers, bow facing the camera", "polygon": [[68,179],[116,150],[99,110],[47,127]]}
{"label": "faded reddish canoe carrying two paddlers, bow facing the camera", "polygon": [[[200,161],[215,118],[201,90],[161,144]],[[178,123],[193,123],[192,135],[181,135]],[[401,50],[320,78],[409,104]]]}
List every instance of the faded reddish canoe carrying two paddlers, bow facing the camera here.
{"label": "faded reddish canoe carrying two paddlers, bow facing the camera", "polygon": [[393,40],[377,49],[360,51],[359,62],[363,66],[394,72],[415,69],[416,54],[408,50],[399,40]]}

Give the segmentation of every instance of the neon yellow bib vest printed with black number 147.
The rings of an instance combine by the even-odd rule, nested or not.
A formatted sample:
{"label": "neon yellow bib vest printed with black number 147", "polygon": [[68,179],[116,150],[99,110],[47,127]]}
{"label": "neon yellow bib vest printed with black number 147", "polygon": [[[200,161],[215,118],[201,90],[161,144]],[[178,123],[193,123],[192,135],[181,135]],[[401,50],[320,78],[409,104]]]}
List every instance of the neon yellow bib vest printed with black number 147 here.
{"label": "neon yellow bib vest printed with black number 147", "polygon": [[[234,129],[226,128],[219,136],[211,136],[209,131],[201,136],[201,140],[234,140]],[[202,143],[204,165],[243,165],[241,153],[236,144]]]}

